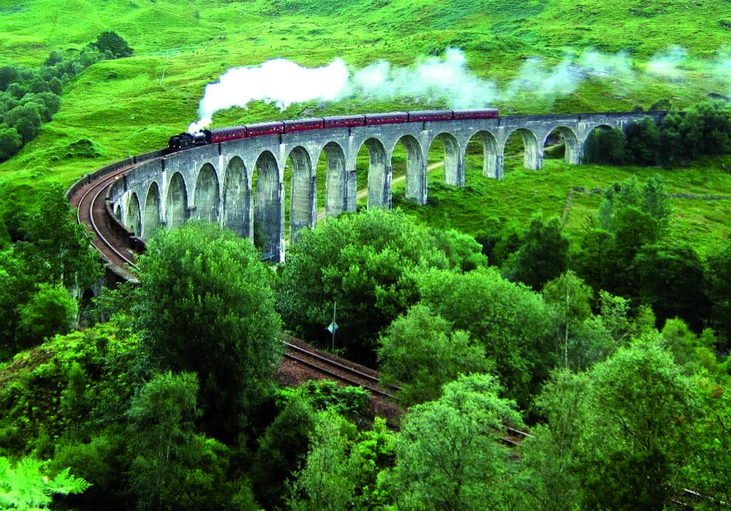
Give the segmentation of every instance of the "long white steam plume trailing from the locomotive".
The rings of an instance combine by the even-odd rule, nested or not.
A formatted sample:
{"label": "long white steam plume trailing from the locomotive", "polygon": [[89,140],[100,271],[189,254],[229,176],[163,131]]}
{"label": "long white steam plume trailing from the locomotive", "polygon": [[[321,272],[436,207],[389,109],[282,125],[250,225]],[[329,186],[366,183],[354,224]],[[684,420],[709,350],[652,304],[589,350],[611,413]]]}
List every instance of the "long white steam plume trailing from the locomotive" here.
{"label": "long white steam plume trailing from the locomotive", "polygon": [[[416,67],[398,67],[377,61],[350,71],[341,58],[325,67],[306,68],[284,58],[266,61],[257,67],[229,69],[216,83],[205,87],[200,102],[200,121],[189,126],[194,132],[211,124],[213,113],[229,107],[243,107],[254,100],[274,103],[285,110],[294,102],[360,99],[414,99],[426,105],[445,101],[450,108],[480,108],[496,99],[512,99],[532,94],[555,99],[572,94],[586,77],[613,77],[635,84],[642,78],[678,80],[688,53],[679,46],[657,53],[640,75],[629,54],[600,53],[588,48],[580,56],[567,55],[555,67],[546,67],[540,58],[529,58],[507,86],[500,90],[493,80],[485,80],[469,70],[464,53],[447,48],[444,58],[429,57]],[[731,94],[731,48],[719,53],[711,74],[721,80]]]}

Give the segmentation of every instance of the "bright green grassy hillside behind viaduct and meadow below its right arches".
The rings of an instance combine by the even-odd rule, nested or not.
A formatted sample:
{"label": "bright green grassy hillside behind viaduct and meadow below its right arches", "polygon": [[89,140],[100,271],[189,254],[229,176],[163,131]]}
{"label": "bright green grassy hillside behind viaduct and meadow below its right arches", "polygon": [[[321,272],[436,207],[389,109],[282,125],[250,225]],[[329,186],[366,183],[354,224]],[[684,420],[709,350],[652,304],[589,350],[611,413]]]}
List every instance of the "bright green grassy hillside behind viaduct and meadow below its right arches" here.
{"label": "bright green grassy hillside behind viaduct and meadow below its right arches", "polygon": [[[647,106],[661,96],[687,105],[708,91],[723,91],[721,83],[708,75],[708,67],[730,35],[719,23],[727,11],[726,0],[688,7],[637,0],[583,4],[567,0],[0,0],[0,64],[38,65],[51,50],[81,48],[103,30],[118,31],[135,48],[134,57],[96,64],[67,86],[61,112],[44,126],[42,135],[0,164],[0,186],[17,189],[31,200],[45,183],[68,184],[102,164],[159,148],[170,133],[197,118],[206,83],[229,67],[260,64],[274,57],[307,66],[327,64],[336,56],[352,67],[379,58],[412,65],[428,52],[439,53],[454,45],[465,50],[469,67],[477,75],[504,86],[531,56],[540,56],[552,66],[567,52],[580,53],[588,47],[607,53],[626,50],[632,54],[635,80],[585,80],[571,96],[522,94],[510,101],[498,100],[496,106],[526,113],[623,110],[637,103]],[[692,57],[684,79],[648,77],[644,73],[648,60],[673,44],[683,45]],[[419,106],[349,99],[329,105],[326,113]],[[249,110],[220,114],[216,124],[292,118],[302,107],[292,105],[279,113],[269,105],[252,105]],[[103,156],[53,159],[80,137],[98,143]],[[469,189],[433,191],[434,197],[450,194],[458,206],[442,200],[439,213],[420,214],[448,217],[452,225],[468,231],[477,230],[485,216],[525,217],[537,207],[546,214],[560,214],[569,186],[606,186],[628,172],[656,171],[568,167],[547,161],[539,173],[515,168],[499,183],[480,182],[479,170],[471,171]],[[727,177],[713,170],[705,170],[702,178],[675,179],[676,174],[694,175],[668,174],[671,192],[700,187],[731,193]],[[700,185],[693,184],[693,179]],[[536,201],[529,192],[538,189],[545,192]],[[597,200],[577,197],[569,229],[580,216],[577,212],[593,207]],[[682,208],[678,222],[696,232],[710,232],[709,238],[728,232],[728,205],[694,202],[686,208],[683,202],[678,207]]]}

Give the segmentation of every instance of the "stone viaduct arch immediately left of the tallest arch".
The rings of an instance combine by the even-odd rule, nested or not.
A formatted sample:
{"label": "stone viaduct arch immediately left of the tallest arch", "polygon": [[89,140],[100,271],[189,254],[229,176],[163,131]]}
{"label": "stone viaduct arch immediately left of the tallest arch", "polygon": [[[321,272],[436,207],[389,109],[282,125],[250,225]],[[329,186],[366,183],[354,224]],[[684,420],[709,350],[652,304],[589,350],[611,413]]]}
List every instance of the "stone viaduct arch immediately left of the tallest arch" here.
{"label": "stone viaduct arch immediately left of the tallest arch", "polygon": [[251,189],[246,165],[234,156],[226,167],[223,186],[224,227],[242,238],[251,238]]}

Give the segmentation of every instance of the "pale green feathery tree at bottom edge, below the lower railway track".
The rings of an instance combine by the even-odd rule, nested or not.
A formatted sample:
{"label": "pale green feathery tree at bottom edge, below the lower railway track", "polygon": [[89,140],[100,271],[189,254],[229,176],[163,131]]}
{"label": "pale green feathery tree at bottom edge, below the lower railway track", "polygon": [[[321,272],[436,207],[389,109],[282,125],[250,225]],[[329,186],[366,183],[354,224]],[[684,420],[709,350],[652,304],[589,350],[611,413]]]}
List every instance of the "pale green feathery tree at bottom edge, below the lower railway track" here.
{"label": "pale green feathery tree at bottom edge, below the lower railway track", "polygon": [[506,422],[520,425],[513,404],[499,392],[494,376],[461,376],[444,386],[438,401],[411,409],[396,439],[390,475],[398,509],[497,507],[509,451],[495,436]]}

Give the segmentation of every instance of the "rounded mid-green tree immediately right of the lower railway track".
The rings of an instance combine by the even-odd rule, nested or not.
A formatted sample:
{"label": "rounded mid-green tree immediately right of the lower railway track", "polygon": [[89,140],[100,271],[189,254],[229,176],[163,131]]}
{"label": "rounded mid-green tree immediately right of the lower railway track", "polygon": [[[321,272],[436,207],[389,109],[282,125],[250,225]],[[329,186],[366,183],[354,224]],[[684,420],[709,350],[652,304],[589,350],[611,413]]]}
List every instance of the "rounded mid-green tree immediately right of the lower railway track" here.
{"label": "rounded mid-green tree immediately right of the lower railway track", "polygon": [[487,372],[492,364],[485,348],[469,341],[469,333],[417,303],[386,330],[378,351],[385,382],[400,382],[404,406],[439,398],[442,385],[460,374]]}

